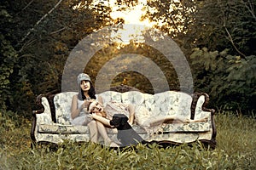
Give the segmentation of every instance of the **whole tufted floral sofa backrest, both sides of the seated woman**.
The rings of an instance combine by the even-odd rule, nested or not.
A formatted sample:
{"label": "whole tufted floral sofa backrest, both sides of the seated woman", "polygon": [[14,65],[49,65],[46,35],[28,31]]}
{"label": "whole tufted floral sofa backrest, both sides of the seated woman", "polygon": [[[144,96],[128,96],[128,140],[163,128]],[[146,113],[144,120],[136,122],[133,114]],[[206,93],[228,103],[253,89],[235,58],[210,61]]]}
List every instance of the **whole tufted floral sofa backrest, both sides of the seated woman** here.
{"label": "whole tufted floral sofa backrest, both sides of the seated woman", "polygon": [[[71,124],[71,104],[76,92],[56,94],[54,97],[56,122]],[[119,93],[114,91],[96,94],[102,96],[103,104],[109,101],[123,102],[145,107],[152,116],[175,115],[189,118],[192,97],[189,94],[177,91],[166,91],[160,94],[143,94],[138,91]],[[139,114],[139,113],[135,113]]]}

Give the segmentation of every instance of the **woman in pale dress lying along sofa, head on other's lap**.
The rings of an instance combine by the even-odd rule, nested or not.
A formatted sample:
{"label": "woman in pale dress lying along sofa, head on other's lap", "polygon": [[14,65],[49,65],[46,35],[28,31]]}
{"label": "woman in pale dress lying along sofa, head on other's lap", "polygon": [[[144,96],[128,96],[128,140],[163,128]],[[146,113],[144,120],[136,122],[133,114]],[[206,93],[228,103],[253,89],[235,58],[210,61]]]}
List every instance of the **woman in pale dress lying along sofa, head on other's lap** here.
{"label": "woman in pale dress lying along sofa, head on other's lap", "polygon": [[[97,122],[102,122],[105,126],[111,127],[110,120],[115,113],[123,113],[129,117],[129,123],[132,124],[134,117],[141,116],[140,119],[137,118],[137,123],[142,126],[148,133],[155,133],[160,130],[160,125],[163,123],[189,123],[189,122],[207,122],[207,117],[201,119],[191,120],[182,119],[177,116],[150,116],[148,110],[143,106],[137,107],[137,116],[135,116],[135,108],[133,105],[124,105],[116,102],[109,102],[105,107],[102,106],[100,101],[102,99],[99,96],[99,102],[94,100],[90,101],[88,105],[88,111],[92,113],[92,117],[97,120]],[[142,118],[143,117],[143,118]]]}

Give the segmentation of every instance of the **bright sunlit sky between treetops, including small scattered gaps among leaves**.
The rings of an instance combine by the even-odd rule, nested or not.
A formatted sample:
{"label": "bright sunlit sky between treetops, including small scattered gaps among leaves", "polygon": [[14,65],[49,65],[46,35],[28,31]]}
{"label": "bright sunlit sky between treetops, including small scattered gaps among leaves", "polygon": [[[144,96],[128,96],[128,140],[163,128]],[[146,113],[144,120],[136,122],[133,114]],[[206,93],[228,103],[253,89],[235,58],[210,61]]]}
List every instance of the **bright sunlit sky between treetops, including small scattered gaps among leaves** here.
{"label": "bright sunlit sky between treetops, including small scattered gaps among leaves", "polygon": [[[169,11],[175,8],[179,0],[173,1]],[[147,0],[138,0],[135,2],[118,2],[117,0],[93,0],[90,4],[87,2],[79,3],[73,6],[74,10],[79,8],[95,9],[100,14],[108,14],[108,26],[115,26],[111,33],[113,42],[118,42],[119,46],[133,42],[144,42],[143,32],[151,28],[159,28],[167,26],[166,16],[159,17],[157,21],[149,19],[148,14],[158,13],[158,9],[149,6]],[[107,11],[103,12],[105,9]],[[182,19],[180,19],[182,20]],[[173,31],[172,26],[167,26],[169,31]],[[182,31],[183,26],[175,27],[178,31]],[[97,31],[97,30],[95,30]],[[166,32],[168,33],[168,32]],[[153,37],[154,39],[154,37]]]}

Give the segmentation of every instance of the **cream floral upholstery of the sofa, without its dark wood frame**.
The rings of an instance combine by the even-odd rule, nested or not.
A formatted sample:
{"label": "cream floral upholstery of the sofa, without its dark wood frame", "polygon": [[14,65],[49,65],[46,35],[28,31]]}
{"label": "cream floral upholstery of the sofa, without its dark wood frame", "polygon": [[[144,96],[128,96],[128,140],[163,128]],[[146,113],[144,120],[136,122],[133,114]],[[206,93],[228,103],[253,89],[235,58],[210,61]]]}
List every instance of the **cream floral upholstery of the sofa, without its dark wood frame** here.
{"label": "cream floral upholstery of the sofa, without its dark wood frame", "polygon": [[[48,141],[55,144],[63,140],[71,139],[73,141],[90,141],[89,128],[87,126],[73,126],[70,122],[71,103],[75,92],[65,92],[56,94],[55,117],[56,123],[51,120],[48,100],[43,97],[42,104],[44,112],[37,114],[37,126],[35,127],[36,141]],[[145,116],[166,116],[173,115],[181,118],[189,118],[192,104],[192,97],[177,91],[166,91],[160,94],[143,94],[137,91],[118,93],[113,91],[104,92],[101,95],[103,103],[113,100],[125,104],[134,104],[143,106],[148,110],[148,115],[140,115],[137,109],[136,119],[144,119]],[[189,143],[197,139],[212,138],[211,112],[203,111],[202,105],[205,102],[205,96],[201,96],[195,106],[195,118],[208,116],[208,122],[190,122],[164,124],[159,127],[159,132],[147,133],[143,127],[135,123],[132,127],[147,141],[172,141],[177,143]],[[108,128],[109,136],[116,141],[116,129]]]}

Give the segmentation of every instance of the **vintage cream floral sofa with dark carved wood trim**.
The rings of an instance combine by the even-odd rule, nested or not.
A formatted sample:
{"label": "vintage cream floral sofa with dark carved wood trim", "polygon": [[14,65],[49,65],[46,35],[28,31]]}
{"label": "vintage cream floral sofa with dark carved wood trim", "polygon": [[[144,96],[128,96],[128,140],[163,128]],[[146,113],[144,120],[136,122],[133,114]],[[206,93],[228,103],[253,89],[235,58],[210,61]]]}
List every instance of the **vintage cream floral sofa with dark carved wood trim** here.
{"label": "vintage cream floral sofa with dark carved wood trim", "polygon": [[[109,100],[143,105],[157,115],[176,115],[191,119],[208,117],[207,122],[171,123],[160,127],[160,132],[147,133],[143,127],[137,125],[137,120],[132,127],[147,142],[159,144],[183,144],[201,141],[216,145],[216,127],[214,123],[214,110],[207,109],[209,96],[205,93],[185,94],[178,91],[166,91],[159,94],[143,94],[132,91],[131,88],[114,88],[100,94],[106,103]],[[125,90],[124,90],[125,89]],[[128,90],[127,90],[128,89]],[[130,89],[130,90],[129,90]],[[74,142],[90,141],[87,126],[73,126],[70,123],[70,107],[73,95],[76,92],[59,94],[41,94],[37,98],[40,110],[32,112],[31,138],[33,143],[61,144],[65,140]],[[136,112],[135,114],[140,114]],[[149,116],[149,115],[148,115]],[[140,116],[136,116],[137,119]],[[144,117],[141,117],[144,118]],[[116,129],[108,128],[108,136],[118,142]]]}

